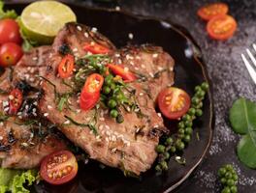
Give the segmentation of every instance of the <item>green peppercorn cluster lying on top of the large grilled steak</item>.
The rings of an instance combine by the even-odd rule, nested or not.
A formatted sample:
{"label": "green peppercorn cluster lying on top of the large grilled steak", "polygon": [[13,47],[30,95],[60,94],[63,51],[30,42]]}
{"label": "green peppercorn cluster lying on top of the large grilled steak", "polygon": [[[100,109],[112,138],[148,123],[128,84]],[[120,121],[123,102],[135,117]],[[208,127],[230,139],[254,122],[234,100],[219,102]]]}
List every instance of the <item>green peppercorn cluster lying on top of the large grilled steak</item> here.
{"label": "green peppercorn cluster lying on top of the large grilled steak", "polygon": [[112,74],[106,76],[102,90],[102,100],[110,109],[110,116],[117,123],[123,122],[123,116],[118,112],[118,106],[127,101],[127,97],[122,92],[122,80],[113,77]]}

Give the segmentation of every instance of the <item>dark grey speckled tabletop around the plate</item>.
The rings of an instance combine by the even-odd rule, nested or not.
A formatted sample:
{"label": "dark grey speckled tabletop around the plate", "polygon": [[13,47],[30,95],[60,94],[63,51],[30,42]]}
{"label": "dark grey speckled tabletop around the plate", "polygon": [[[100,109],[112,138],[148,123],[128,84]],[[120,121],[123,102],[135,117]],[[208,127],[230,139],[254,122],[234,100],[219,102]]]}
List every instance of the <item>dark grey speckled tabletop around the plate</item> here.
{"label": "dark grey speckled tabletop around the plate", "polygon": [[239,24],[235,37],[225,42],[209,40],[205,30],[206,23],[196,15],[201,6],[212,1],[119,0],[114,3],[100,3],[92,0],[73,0],[72,2],[112,9],[118,6],[126,12],[169,19],[187,28],[203,50],[208,73],[213,82],[216,122],[214,138],[207,157],[176,192],[220,192],[219,182],[216,180],[217,169],[223,164],[233,163],[240,176],[239,192],[255,193],[256,171],[244,167],[238,160],[236,146],[240,136],[230,129],[228,112],[233,101],[240,96],[256,101],[256,85],[253,84],[240,58],[240,53],[244,52],[252,42],[256,42],[256,0],[223,1],[229,5],[229,13],[235,16]]}

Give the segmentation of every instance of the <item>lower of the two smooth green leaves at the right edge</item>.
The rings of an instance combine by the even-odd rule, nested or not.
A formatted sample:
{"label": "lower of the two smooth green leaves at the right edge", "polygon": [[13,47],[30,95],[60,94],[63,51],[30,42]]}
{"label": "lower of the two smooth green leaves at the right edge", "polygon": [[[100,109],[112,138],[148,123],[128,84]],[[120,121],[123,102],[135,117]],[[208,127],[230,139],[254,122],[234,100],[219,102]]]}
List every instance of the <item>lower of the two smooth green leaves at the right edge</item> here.
{"label": "lower of the two smooth green leaves at the right edge", "polygon": [[238,145],[238,155],[240,158],[240,161],[244,163],[246,166],[249,168],[256,169],[256,144],[255,144],[255,139],[256,139],[256,132],[253,132],[254,134],[254,141],[253,138],[250,137],[250,135],[244,135],[240,143]]}

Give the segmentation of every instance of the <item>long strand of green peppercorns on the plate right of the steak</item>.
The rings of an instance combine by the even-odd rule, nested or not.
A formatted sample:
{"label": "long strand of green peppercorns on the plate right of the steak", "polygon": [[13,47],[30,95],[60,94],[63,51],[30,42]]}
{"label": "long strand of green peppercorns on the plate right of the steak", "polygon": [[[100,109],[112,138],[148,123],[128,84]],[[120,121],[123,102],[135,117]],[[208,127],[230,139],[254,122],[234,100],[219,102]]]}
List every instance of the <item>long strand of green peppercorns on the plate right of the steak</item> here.
{"label": "long strand of green peppercorns on the plate right of the steak", "polygon": [[203,115],[203,100],[207,91],[207,82],[195,87],[195,95],[191,98],[191,107],[177,124],[177,133],[166,138],[162,144],[156,147],[155,151],[158,152],[158,163],[155,170],[157,172],[161,173],[162,171],[168,170],[168,160],[171,154],[183,151],[185,146],[190,142],[193,132],[193,120]]}

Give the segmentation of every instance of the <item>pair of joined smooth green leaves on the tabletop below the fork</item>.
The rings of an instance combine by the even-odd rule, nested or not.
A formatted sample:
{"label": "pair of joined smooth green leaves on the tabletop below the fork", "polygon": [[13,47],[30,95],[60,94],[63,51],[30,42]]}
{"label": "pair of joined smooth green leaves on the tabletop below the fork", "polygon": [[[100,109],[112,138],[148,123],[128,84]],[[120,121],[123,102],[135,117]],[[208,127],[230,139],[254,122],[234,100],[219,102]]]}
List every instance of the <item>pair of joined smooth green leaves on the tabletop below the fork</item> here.
{"label": "pair of joined smooth green leaves on the tabletop below the fork", "polygon": [[236,100],[230,110],[230,122],[242,134],[237,151],[240,161],[256,169],[256,103],[245,98]]}

